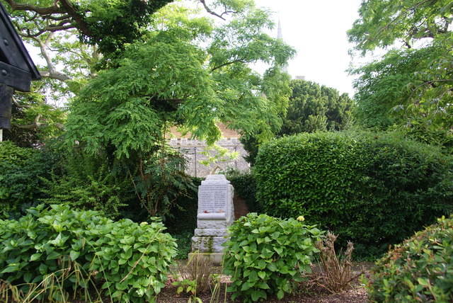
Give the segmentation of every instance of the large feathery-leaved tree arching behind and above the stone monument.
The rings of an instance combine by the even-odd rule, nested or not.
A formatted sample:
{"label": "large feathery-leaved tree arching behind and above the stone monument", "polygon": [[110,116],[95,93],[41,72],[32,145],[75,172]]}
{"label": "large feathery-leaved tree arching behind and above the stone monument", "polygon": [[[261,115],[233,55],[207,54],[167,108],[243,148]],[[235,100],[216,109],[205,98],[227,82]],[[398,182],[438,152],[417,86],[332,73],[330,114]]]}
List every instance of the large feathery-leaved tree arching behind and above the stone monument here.
{"label": "large feathery-leaved tree arching behind and above the stone monument", "polygon": [[[186,187],[166,149],[168,127],[208,143],[219,139],[217,122],[271,137],[270,125],[281,123],[287,105],[280,68],[294,50],[263,33],[273,25],[269,13],[253,1],[218,4],[234,13],[215,14],[231,21],[214,25],[183,6],[162,8],[146,42],[125,46],[116,67],[98,72],[69,105],[68,144],[123,169],[153,216],[172,205],[170,197],[156,195],[168,180],[179,191]],[[270,65],[263,76],[248,67],[258,61]]]}

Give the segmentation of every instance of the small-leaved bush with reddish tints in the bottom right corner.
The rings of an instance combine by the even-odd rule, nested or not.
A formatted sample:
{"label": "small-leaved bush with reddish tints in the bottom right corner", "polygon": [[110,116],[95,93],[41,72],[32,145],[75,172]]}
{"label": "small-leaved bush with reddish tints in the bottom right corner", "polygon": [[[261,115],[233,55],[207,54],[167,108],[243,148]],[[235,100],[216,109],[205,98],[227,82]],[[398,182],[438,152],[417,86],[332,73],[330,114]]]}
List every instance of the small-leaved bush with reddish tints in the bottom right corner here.
{"label": "small-leaved bush with reddish tints in the bottom right corner", "polygon": [[377,261],[370,302],[453,302],[453,217],[437,221]]}

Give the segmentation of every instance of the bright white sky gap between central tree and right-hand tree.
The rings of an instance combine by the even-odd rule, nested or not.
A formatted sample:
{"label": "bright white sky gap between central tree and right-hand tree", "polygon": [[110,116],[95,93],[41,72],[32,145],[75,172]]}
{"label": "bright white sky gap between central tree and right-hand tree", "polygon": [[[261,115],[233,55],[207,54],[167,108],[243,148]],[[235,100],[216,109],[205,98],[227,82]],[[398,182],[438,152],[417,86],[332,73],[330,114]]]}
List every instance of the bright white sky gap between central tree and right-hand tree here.
{"label": "bright white sky gap between central tree and right-hand tree", "polygon": [[[275,11],[280,16],[283,40],[297,50],[287,72],[305,76],[306,80],[349,93],[352,97],[352,78],[345,69],[350,64],[346,31],[358,18],[361,0],[255,0],[257,6]],[[277,25],[273,33],[277,36]]]}

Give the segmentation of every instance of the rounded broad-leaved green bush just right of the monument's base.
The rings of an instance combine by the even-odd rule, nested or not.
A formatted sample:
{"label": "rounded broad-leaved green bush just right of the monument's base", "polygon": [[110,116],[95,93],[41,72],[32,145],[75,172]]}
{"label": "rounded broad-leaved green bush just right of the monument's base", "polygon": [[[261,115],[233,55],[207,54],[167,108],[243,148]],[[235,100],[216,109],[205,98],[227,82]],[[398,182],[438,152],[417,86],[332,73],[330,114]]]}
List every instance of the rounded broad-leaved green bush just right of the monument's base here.
{"label": "rounded broad-leaved green bush just right of the monument's base", "polygon": [[291,292],[302,273],[311,270],[311,256],[321,231],[295,219],[249,213],[229,228],[225,242],[224,273],[231,275],[228,291],[235,299],[256,302],[268,295],[281,299]]}

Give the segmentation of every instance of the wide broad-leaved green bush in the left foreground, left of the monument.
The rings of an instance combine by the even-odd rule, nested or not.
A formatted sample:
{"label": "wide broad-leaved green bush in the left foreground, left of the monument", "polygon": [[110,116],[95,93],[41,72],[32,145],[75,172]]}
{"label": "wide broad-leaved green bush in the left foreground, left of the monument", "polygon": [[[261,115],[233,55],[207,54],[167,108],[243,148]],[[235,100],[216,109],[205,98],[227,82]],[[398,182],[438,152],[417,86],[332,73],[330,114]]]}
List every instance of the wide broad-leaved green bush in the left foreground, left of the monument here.
{"label": "wide broad-leaved green bush in the left foreground, left of the monument", "polygon": [[[148,302],[167,280],[176,244],[160,222],[114,222],[95,211],[43,205],[18,220],[0,220],[0,279],[28,292],[30,283],[63,275],[62,264],[76,263],[80,278],[61,287],[88,287],[95,277],[117,302]],[[23,284],[25,283],[25,284]]]}

